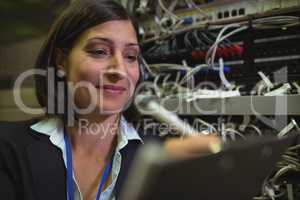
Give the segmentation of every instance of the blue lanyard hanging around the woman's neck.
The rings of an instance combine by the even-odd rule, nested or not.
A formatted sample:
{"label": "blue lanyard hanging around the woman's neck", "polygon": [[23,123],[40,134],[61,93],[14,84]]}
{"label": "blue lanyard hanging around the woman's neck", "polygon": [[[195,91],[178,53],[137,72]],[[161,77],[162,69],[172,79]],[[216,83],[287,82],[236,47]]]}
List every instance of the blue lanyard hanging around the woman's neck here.
{"label": "blue lanyard hanging around the woman's neck", "polygon": [[[65,145],[66,145],[66,156],[67,156],[67,194],[68,194],[68,200],[75,200],[74,199],[74,183],[73,183],[73,158],[72,158],[72,147],[71,147],[71,142],[69,139],[68,134],[64,133],[64,140],[65,140]],[[114,155],[114,154],[113,154]],[[112,169],[112,164],[113,164],[113,158],[110,160],[109,164],[105,167],[103,176],[101,178],[101,182],[98,188],[96,200],[100,199],[101,191],[103,189],[103,186],[106,182],[106,180],[109,177],[109,174]]]}

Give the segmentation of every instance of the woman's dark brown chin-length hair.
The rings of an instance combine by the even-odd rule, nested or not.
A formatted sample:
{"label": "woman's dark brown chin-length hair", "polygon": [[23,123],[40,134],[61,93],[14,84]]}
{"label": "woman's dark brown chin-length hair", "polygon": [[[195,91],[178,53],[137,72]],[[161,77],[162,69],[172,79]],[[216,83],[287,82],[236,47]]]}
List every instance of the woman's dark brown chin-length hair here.
{"label": "woman's dark brown chin-length hair", "polygon": [[[38,58],[36,60],[36,69],[54,69],[54,86],[57,88],[57,82],[61,80],[57,76],[56,66],[56,50],[57,49],[71,49],[75,41],[79,38],[81,33],[85,30],[96,26],[98,24],[105,23],[112,20],[131,20],[137,33],[137,25],[133,18],[129,16],[125,8],[119,3],[113,0],[76,0],[69,5],[58,17],[55,23],[52,25],[50,33],[46,38],[44,45],[42,46]],[[138,34],[137,34],[138,37]],[[141,71],[141,70],[140,70]],[[65,112],[63,114],[66,117],[67,106],[66,101],[59,102],[58,94],[54,92],[54,113],[49,113],[48,108],[48,73],[47,76],[35,76],[35,87],[38,102],[42,107],[46,107],[46,113],[57,113],[58,103],[63,103],[65,106]],[[141,76],[140,76],[141,79]],[[66,81],[66,80],[64,80]],[[138,81],[139,84],[140,80]],[[65,87],[67,88],[67,87]],[[67,91],[65,91],[67,94]],[[67,99],[67,98],[64,98]],[[137,110],[132,103],[130,107],[123,113],[125,118],[134,122],[137,116]]]}

